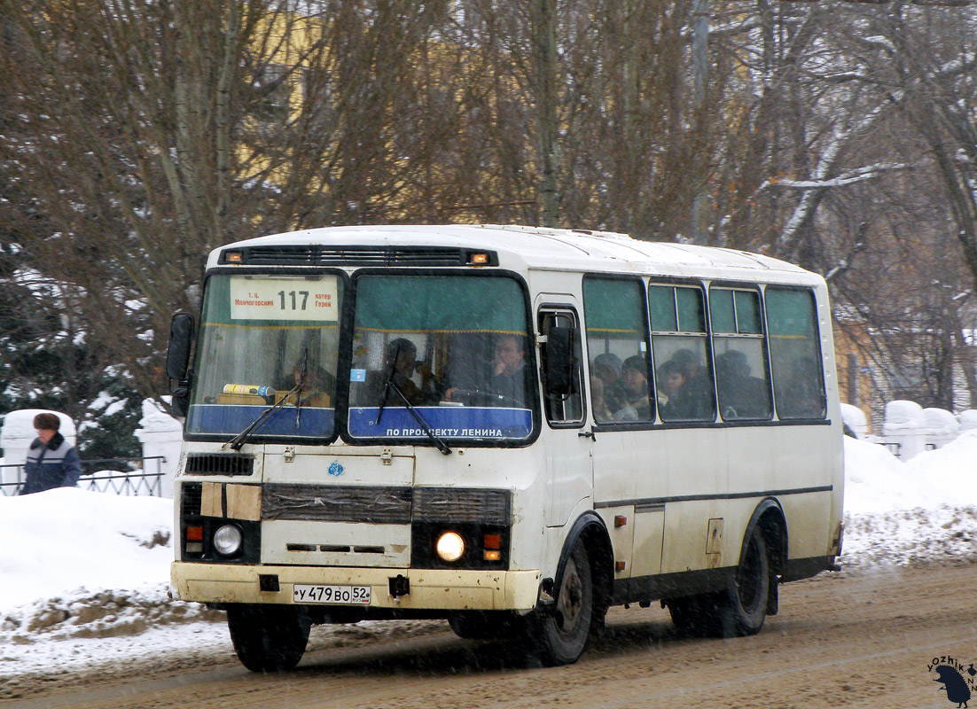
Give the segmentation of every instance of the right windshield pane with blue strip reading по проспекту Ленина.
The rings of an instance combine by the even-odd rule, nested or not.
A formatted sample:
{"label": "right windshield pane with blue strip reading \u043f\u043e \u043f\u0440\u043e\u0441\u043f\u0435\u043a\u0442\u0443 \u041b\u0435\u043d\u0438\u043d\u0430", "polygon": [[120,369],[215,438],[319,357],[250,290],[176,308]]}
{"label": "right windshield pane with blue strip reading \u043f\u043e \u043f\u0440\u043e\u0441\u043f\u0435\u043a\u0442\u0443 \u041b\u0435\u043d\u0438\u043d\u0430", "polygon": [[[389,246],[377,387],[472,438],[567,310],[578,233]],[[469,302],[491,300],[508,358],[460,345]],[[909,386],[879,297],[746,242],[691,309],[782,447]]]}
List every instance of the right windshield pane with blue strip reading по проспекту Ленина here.
{"label": "right windshield pane with blue strip reading \u043f\u043e \u043f\u0440\u043e\u0441\u043f\u0435\u043a\u0442\u0443 \u041b\u0435\u043d\u0438\u043d\u0430", "polygon": [[[526,299],[506,276],[361,275],[353,438],[519,440],[532,432]],[[412,409],[412,410],[411,410]]]}

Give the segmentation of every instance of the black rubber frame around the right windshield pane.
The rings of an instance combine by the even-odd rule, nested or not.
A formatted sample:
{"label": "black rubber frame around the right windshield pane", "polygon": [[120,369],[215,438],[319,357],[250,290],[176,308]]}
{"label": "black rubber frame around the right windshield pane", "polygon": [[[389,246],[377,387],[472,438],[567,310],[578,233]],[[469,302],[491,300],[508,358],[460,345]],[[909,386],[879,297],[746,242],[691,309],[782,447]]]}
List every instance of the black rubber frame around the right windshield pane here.
{"label": "black rubber frame around the right windshield pane", "polygon": [[[367,267],[363,269],[355,269],[350,272],[350,284],[348,297],[346,298],[346,303],[343,309],[343,327],[340,329],[339,337],[339,366],[345,367],[345,371],[348,373],[353,364],[353,334],[355,330],[354,318],[356,316],[356,302],[357,302],[357,284],[361,276],[376,276],[376,275],[408,275],[408,276],[443,276],[443,275],[464,275],[473,277],[487,277],[487,278],[499,278],[507,277],[516,282],[519,286],[520,291],[523,294],[523,304],[524,304],[524,314],[526,316],[526,337],[527,342],[527,354],[528,357],[526,366],[531,369],[531,386],[529,388],[530,396],[530,410],[532,413],[532,430],[530,435],[526,438],[514,439],[495,439],[495,438],[445,438],[446,443],[451,447],[463,447],[463,448],[525,448],[536,441],[539,438],[540,432],[542,430],[542,410],[540,408],[539,400],[539,365],[535,354],[535,347],[531,347],[532,339],[535,333],[535,326],[532,320],[532,307],[530,302],[530,287],[523,278],[516,271],[509,271],[508,269],[496,269],[496,268],[486,268],[486,269],[454,269],[454,268],[424,268],[424,269],[410,269],[410,268],[378,268],[378,267]],[[349,308],[349,314],[346,313],[346,308]],[[345,358],[344,358],[345,357]],[[336,423],[335,429],[339,432],[339,439],[341,439],[347,445],[355,446],[394,446],[394,445],[408,445],[408,446],[419,446],[422,448],[435,448],[433,441],[427,438],[392,438],[392,437],[376,437],[376,438],[357,438],[351,436],[349,433],[349,396],[350,396],[350,382],[349,376],[343,377],[346,380],[343,382],[343,395],[340,398],[338,391],[339,386],[337,385],[337,407],[340,402],[342,402],[342,409],[336,410]]]}

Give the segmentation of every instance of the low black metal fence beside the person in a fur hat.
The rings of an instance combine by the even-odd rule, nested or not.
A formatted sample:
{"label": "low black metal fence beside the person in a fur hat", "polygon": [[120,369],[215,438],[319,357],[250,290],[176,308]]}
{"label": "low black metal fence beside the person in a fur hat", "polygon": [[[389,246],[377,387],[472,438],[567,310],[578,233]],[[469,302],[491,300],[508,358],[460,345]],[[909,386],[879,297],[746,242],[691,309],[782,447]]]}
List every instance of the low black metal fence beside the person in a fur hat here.
{"label": "low black metal fence beside the person in a fur hat", "polygon": [[[96,492],[114,492],[116,495],[162,497],[163,462],[165,460],[161,455],[148,458],[82,459],[83,470],[91,470],[93,466],[96,468],[105,466],[106,468],[91,475],[82,475],[78,479],[78,487]],[[127,469],[111,470],[111,468]],[[0,480],[10,478],[10,470],[14,470],[16,480],[12,482],[0,481],[0,495],[6,497],[18,494],[24,481],[23,466],[14,464],[0,465]]]}

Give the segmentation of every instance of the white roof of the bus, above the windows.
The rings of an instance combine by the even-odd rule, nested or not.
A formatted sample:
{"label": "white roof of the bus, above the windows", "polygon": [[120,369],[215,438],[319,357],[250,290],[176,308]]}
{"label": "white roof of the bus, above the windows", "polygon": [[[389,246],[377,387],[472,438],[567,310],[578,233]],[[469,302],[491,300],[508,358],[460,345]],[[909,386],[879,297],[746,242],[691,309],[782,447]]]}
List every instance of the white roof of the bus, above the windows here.
{"label": "white roof of the bus, above the windows", "polygon": [[357,226],[303,229],[259,236],[213,251],[285,245],[436,246],[494,251],[503,267],[527,270],[634,272],[676,276],[743,277],[812,284],[821,276],[785,261],[734,249],[642,241],[627,234],[584,229],[499,225]]}

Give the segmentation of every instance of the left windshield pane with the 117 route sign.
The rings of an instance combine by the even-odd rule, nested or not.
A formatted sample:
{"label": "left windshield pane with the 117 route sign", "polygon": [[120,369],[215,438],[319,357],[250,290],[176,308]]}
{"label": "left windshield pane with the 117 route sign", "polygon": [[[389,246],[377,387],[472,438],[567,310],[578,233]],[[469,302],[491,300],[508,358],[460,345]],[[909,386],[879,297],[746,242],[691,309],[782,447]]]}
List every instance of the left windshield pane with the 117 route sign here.
{"label": "left windshield pane with the 117 route sign", "polygon": [[[214,274],[207,281],[187,432],[331,438],[343,281]],[[298,405],[296,405],[298,404]]]}

